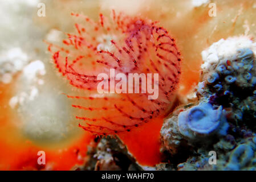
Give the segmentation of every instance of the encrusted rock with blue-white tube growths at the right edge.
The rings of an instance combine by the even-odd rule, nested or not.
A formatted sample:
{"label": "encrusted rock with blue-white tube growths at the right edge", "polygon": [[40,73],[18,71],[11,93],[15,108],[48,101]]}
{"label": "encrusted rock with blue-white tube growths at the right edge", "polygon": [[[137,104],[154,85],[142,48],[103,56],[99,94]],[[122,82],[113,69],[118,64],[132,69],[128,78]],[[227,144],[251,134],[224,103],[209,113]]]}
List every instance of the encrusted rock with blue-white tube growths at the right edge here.
{"label": "encrusted rock with blue-white tube growths at the right edge", "polygon": [[255,43],[221,39],[202,59],[197,97],[165,119],[161,151],[172,169],[255,170]]}

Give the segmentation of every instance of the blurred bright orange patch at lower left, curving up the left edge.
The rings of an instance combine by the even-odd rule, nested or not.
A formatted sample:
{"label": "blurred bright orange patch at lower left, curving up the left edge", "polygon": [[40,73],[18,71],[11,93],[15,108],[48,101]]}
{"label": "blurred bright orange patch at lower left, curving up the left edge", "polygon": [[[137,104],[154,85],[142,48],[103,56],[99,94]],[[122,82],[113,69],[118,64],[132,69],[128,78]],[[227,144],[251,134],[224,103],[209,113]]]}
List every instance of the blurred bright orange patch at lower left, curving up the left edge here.
{"label": "blurred bright orange patch at lower left, curving up the left edge", "polygon": [[[21,129],[15,126],[19,117],[8,106],[13,83],[0,84],[0,170],[70,170],[83,165],[87,160],[87,146],[95,136],[84,133],[64,145],[55,147],[38,146],[20,135]],[[38,164],[38,151],[46,154],[46,165]]]}

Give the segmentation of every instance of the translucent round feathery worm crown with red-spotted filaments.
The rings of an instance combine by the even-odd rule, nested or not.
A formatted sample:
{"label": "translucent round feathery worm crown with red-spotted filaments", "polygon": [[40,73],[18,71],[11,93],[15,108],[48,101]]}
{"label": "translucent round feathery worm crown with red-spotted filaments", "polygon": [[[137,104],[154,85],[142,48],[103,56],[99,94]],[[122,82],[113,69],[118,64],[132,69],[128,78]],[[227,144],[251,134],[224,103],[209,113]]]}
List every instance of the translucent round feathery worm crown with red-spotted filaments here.
{"label": "translucent round feathery worm crown with red-spotted filaments", "polygon": [[[79,126],[97,135],[131,131],[152,118],[165,115],[180,76],[180,52],[175,40],[157,22],[112,13],[100,14],[99,22],[80,14],[76,32],[67,34],[63,45],[49,44],[58,71],[83,96],[67,96],[80,111]],[[147,93],[97,93],[97,75],[115,69],[115,74],[158,73],[159,97]],[[141,82],[140,82],[141,83]]]}

